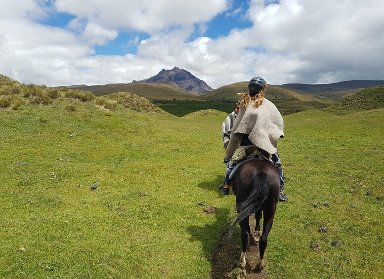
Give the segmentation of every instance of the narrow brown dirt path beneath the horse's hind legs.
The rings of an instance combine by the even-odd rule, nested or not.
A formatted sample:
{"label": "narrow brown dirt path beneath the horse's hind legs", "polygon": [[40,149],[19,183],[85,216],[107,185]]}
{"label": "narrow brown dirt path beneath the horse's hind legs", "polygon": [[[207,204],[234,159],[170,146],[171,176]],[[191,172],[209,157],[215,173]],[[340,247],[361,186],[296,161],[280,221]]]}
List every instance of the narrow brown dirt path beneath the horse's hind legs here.
{"label": "narrow brown dirt path beneath the horse's hind legs", "polygon": [[[255,232],[256,220],[255,215],[250,216],[251,234]],[[225,234],[220,239],[219,247],[213,257],[211,279],[232,279],[236,278],[236,274],[232,273],[238,267],[238,261],[241,254],[241,245],[237,245],[234,240],[226,241]],[[247,260],[247,279],[266,279],[264,272],[255,270],[256,259],[259,257],[258,243],[251,237],[248,247]],[[265,260],[264,260],[265,261]],[[236,269],[237,272],[237,269]]]}

